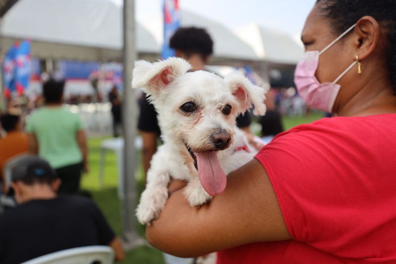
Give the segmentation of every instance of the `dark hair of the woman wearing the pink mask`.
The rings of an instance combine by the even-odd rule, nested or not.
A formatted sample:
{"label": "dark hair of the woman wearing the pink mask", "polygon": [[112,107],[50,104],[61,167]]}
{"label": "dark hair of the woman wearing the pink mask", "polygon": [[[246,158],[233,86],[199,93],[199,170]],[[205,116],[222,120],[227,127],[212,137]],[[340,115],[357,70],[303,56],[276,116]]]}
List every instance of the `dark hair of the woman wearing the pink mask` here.
{"label": "dark hair of the woman wearing the pink mask", "polygon": [[322,14],[331,21],[336,34],[342,34],[363,16],[374,17],[388,37],[386,57],[396,93],[396,0],[317,0]]}

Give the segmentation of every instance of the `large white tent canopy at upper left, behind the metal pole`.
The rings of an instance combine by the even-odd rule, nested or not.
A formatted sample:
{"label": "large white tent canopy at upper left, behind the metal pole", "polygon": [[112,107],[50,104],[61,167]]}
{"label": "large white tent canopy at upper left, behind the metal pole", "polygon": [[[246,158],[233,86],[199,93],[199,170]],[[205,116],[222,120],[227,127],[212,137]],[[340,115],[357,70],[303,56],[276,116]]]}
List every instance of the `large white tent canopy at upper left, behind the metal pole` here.
{"label": "large white tent canopy at upper left, behind the metal pole", "polygon": [[[140,53],[158,53],[150,33],[136,24]],[[121,57],[122,8],[108,0],[19,0],[3,17],[3,47],[32,40],[37,57],[101,60]]]}

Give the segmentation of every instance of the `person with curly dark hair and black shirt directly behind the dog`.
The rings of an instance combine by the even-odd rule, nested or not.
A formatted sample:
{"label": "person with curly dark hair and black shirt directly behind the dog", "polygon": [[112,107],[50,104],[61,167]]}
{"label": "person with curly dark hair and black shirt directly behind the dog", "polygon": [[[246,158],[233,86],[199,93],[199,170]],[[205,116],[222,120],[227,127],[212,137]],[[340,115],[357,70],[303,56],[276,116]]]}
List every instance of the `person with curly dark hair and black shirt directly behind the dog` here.
{"label": "person with curly dark hair and black shirt directly behind the dog", "polygon": [[[176,56],[187,60],[192,68],[190,71],[206,70],[205,65],[213,53],[213,41],[203,28],[181,27],[170,38],[169,46],[176,51]],[[161,134],[158,126],[157,113],[148,97],[143,95],[139,100],[140,115],[138,129],[143,139],[143,165],[147,174],[151,157],[157,150],[157,138]],[[237,118],[237,126],[249,132],[250,115],[246,112]]]}

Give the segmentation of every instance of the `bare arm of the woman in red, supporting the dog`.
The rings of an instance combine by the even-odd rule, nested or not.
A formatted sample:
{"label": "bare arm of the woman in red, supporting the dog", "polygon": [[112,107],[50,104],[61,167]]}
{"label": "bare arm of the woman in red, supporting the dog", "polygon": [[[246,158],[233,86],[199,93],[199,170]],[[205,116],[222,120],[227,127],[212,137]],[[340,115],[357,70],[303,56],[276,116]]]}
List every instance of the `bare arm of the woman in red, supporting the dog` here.
{"label": "bare arm of the woman in red, supporting the dog", "polygon": [[271,182],[255,159],[232,172],[224,193],[200,209],[190,207],[183,190],[172,193],[146,236],[154,247],[180,257],[291,239]]}

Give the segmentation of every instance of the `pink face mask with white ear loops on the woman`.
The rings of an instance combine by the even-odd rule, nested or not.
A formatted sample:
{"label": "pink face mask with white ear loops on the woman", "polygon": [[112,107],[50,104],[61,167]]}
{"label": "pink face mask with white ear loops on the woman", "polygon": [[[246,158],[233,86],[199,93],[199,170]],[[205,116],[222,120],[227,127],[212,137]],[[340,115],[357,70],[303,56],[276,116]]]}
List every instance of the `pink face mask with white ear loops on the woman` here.
{"label": "pink face mask with white ear loops on the woman", "polygon": [[337,41],[347,35],[356,24],[347,29],[337,39],[330,43],[322,51],[305,52],[297,64],[294,76],[294,82],[297,86],[298,94],[304,99],[308,106],[315,107],[319,110],[331,112],[334,102],[336,101],[341,86],[337,82],[344,77],[347,72],[356,65],[357,61],[352,64],[338,76],[332,83],[319,83],[315,77],[316,69],[319,64],[319,55],[330,49]]}

